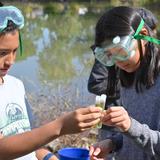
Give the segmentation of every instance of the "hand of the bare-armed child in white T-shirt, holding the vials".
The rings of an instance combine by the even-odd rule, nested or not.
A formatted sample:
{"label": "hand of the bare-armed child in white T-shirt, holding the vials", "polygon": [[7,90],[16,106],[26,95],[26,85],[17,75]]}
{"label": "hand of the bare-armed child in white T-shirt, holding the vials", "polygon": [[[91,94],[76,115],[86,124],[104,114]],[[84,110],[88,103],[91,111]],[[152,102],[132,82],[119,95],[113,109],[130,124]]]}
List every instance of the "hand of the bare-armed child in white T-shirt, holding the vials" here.
{"label": "hand of the bare-armed child in white T-shirt, holding the vials", "polygon": [[64,114],[61,119],[61,135],[83,132],[100,122],[102,109],[95,106],[79,108]]}

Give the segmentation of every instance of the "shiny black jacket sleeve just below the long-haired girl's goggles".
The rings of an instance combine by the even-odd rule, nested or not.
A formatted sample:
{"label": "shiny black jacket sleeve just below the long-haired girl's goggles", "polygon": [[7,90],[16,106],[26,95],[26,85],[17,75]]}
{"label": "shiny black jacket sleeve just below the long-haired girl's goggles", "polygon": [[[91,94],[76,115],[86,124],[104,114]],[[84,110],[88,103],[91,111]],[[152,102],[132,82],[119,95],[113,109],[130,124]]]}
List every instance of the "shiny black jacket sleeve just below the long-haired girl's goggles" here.
{"label": "shiny black jacket sleeve just below the long-haired girl's goggles", "polygon": [[108,79],[107,67],[102,65],[99,61],[95,59],[95,63],[93,65],[88,80],[89,92],[97,95],[106,94],[107,79]]}

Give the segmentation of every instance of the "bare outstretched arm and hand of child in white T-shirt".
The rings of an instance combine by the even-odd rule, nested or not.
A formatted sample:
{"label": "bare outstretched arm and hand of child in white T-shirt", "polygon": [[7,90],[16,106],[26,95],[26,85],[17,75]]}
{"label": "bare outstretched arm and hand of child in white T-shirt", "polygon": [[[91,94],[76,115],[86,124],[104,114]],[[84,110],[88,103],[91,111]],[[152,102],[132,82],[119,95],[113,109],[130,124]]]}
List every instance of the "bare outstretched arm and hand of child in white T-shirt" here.
{"label": "bare outstretched arm and hand of child in white T-shirt", "polygon": [[40,128],[4,137],[0,139],[0,160],[10,160],[26,155],[58,136],[85,131],[96,125],[100,118],[101,109],[93,106],[80,108],[66,113]]}

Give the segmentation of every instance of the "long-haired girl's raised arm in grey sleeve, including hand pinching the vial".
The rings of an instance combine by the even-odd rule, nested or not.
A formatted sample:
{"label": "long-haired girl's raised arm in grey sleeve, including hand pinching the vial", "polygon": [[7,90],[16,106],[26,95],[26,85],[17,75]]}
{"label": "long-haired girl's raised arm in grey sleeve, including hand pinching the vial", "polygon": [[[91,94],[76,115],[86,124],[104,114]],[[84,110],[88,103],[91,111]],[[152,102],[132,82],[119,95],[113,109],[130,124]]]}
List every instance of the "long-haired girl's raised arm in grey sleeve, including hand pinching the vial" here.
{"label": "long-haired girl's raised arm in grey sleeve, including hand pinching the vial", "polygon": [[144,152],[160,159],[160,131],[151,130],[148,125],[141,124],[129,117],[123,107],[109,108],[104,115],[103,123],[117,127],[124,135],[141,147]]}

